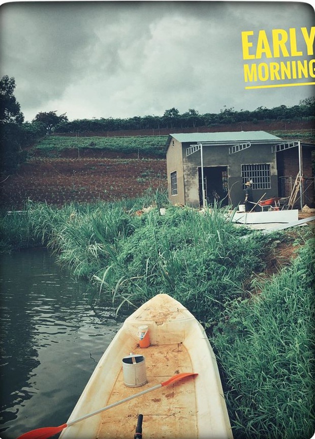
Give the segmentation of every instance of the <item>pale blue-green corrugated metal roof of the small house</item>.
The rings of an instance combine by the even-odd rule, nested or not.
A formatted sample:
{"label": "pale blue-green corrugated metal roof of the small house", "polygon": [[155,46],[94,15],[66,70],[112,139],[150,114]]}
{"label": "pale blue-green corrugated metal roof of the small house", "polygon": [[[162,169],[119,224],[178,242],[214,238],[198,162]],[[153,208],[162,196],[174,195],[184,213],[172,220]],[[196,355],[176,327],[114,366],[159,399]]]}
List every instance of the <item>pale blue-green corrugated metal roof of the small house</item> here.
{"label": "pale blue-green corrugated metal roof of the small house", "polygon": [[[225,131],[216,133],[178,133],[170,137],[179,142],[240,142],[248,140],[281,140],[266,131]],[[169,137],[169,139],[170,139]]]}

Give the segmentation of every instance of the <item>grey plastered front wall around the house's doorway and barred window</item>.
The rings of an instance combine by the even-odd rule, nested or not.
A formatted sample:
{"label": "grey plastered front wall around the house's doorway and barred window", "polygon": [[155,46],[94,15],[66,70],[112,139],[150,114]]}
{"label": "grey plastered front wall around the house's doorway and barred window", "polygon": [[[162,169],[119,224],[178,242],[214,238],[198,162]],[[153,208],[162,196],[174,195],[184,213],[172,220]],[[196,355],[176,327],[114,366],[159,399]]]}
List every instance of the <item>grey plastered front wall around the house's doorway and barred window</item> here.
{"label": "grey plastered front wall around the house's doorway and barred window", "polygon": [[[190,144],[182,144],[183,178],[185,204],[199,207],[198,167],[201,166],[200,151],[186,157],[186,148]],[[254,201],[258,201],[264,193],[265,198],[278,195],[276,155],[271,152],[271,146],[266,144],[251,145],[250,148],[229,154],[228,145],[211,145],[203,147],[203,166],[228,166],[230,201],[237,206],[244,200],[242,187],[242,164],[270,164],[271,189],[253,190]]]}

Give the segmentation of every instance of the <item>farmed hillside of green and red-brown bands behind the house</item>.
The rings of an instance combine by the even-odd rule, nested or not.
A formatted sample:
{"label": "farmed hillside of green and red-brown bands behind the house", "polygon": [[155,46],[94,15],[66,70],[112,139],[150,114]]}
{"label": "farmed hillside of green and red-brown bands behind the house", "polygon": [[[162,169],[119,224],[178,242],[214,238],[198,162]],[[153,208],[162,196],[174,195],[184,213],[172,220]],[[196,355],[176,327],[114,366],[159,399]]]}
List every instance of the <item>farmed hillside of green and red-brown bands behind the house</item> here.
{"label": "farmed hillside of green and red-brown bands behind the house", "polygon": [[[240,129],[264,130],[284,139],[315,142],[313,124],[305,121],[231,124],[207,128],[207,131]],[[169,132],[173,132],[172,129]],[[148,188],[166,189],[164,145],[167,136],[162,133],[150,136],[146,131],[136,133],[137,137],[130,136],[129,132],[129,136],[127,133],[117,136],[116,132],[116,136],[107,137],[97,133],[93,133],[93,137],[46,137],[28,151],[27,162],[16,174],[4,176],[2,208],[23,209],[27,199],[61,206],[70,201],[137,197]]]}

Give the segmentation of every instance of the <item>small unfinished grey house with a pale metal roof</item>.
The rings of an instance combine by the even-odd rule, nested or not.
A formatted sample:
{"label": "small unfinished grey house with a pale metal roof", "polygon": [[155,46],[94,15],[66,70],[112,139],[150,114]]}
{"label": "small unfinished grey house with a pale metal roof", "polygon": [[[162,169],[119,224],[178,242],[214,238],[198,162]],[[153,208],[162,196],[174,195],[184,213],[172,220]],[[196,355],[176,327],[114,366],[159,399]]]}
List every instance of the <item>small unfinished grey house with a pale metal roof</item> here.
{"label": "small unfinished grey house with a pale metal roof", "polygon": [[303,175],[298,203],[314,203],[311,153],[315,145],[287,141],[265,131],[170,134],[166,143],[168,193],[172,204],[200,207],[207,200],[236,207],[246,181],[254,200],[289,197]]}

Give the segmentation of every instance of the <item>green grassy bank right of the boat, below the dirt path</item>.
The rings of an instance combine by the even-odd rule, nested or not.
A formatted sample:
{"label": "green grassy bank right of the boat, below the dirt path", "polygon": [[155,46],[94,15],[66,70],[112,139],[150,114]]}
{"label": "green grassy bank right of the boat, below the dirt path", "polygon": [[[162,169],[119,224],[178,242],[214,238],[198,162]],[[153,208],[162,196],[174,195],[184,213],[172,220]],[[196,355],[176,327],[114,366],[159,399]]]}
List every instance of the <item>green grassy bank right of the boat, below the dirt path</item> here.
{"label": "green grassy bank right of the boat, below the dirt path", "polygon": [[235,300],[216,330],[235,439],[314,433],[314,268],[312,238],[260,295]]}

